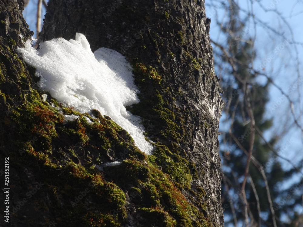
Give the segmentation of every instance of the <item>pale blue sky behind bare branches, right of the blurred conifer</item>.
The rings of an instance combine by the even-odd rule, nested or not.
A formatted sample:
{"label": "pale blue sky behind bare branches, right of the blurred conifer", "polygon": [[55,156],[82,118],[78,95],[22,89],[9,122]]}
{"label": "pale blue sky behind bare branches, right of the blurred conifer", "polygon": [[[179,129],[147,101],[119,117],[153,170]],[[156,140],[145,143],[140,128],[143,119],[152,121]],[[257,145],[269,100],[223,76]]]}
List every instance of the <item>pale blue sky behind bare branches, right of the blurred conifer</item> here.
{"label": "pale blue sky behind bare branches, right of the blurred conifer", "polygon": [[[206,0],[205,2],[206,16],[212,19],[210,38],[214,41],[218,41],[219,43],[224,43],[225,37],[220,33],[220,27],[216,24],[215,10],[213,7],[209,6],[210,3],[213,4],[217,1],[208,2]],[[251,11],[251,2],[252,1],[239,1],[239,4],[241,8],[247,10],[250,9]],[[260,7],[258,2],[254,1],[254,3],[252,4],[252,9],[255,14],[255,17],[258,18],[260,21],[263,21],[266,25],[274,28],[284,37],[280,37],[269,29],[262,27],[261,23],[257,23],[255,29],[253,21],[250,20],[248,22],[247,35],[251,37],[256,37],[255,50],[257,53],[257,57],[254,62],[255,68],[260,69],[260,67],[262,66],[261,68],[264,68],[264,70],[261,71],[266,72],[268,76],[271,77],[274,82],[279,87],[281,87],[286,94],[291,97],[291,100],[295,103],[294,109],[297,113],[296,116],[298,117],[300,109],[299,107],[301,106],[302,108],[303,106],[302,98],[301,104],[299,105],[298,103],[299,94],[303,92],[303,84],[301,85],[301,87],[298,87],[298,83],[296,82],[299,77],[301,78],[301,72],[303,70],[301,64],[301,61],[303,61],[303,46],[291,44],[291,41],[303,43],[303,29],[301,24],[301,21],[303,21],[303,4],[298,3],[297,1],[282,0],[263,0],[260,2],[262,3],[265,9],[277,9],[278,12],[280,12],[281,15],[285,17],[285,21],[288,23],[291,29],[288,27],[285,21],[283,21],[277,16],[276,13],[265,12],[265,10]],[[295,2],[297,2],[297,4],[295,4]],[[218,21],[222,21],[227,15],[225,15],[225,10],[219,2],[217,2],[216,5],[218,6],[216,9],[219,9]],[[240,15],[242,15],[244,18],[246,14],[240,13]],[[291,32],[293,32],[293,34]],[[295,48],[297,48],[298,55],[295,51]],[[297,61],[297,56],[299,63]],[[258,80],[259,83],[264,83],[265,81],[267,81],[264,76],[259,76]],[[291,92],[288,92],[289,88]],[[291,117],[289,113],[289,102],[285,98],[283,99],[283,95],[281,94],[281,92],[274,86],[271,86],[269,94],[270,101],[266,106],[268,109],[266,117],[273,117],[274,126],[271,130],[268,130],[268,132],[265,133],[265,136],[267,138],[270,138],[273,133],[280,132],[283,128],[282,124],[284,123],[284,121],[287,120],[286,123],[288,125],[294,121],[293,117]],[[289,118],[286,118],[287,114],[289,114]],[[223,120],[224,119],[221,118],[221,122]],[[291,146],[288,146],[287,149],[281,149],[281,153],[279,154],[297,163],[303,158],[303,153],[301,152],[303,148],[303,137],[298,127],[293,127],[292,129],[288,130],[285,135],[280,139],[277,145],[283,147],[290,139],[294,142],[291,144]],[[288,163],[282,163],[285,169],[291,167]]]}

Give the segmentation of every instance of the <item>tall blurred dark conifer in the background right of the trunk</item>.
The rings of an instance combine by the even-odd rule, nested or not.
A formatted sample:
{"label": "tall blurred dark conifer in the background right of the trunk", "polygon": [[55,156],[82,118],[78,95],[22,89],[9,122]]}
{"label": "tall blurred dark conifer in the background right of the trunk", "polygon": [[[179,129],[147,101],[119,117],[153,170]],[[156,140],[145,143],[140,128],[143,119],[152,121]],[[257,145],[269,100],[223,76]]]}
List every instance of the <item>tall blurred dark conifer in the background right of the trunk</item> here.
{"label": "tall blurred dark conifer in the background right of the trunk", "polygon": [[[297,222],[287,224],[281,217],[286,214],[289,219],[294,218],[296,214],[291,211],[299,204],[299,196],[292,195],[295,200],[292,203],[279,204],[277,201],[286,197],[291,189],[280,191],[279,182],[296,170],[282,169],[271,149],[278,140],[276,136],[269,140],[271,146],[262,138],[272,125],[272,119],[265,118],[270,81],[259,82],[258,72],[253,68],[256,56],[254,41],[245,34],[248,30],[245,29],[246,19],[240,18],[238,6],[232,3],[229,20],[222,28],[227,37],[227,51],[221,47],[221,52],[214,54],[221,56],[221,64],[228,65],[222,86],[227,103],[226,125],[230,127],[223,133],[221,142],[225,143],[220,143],[225,226],[231,223],[241,226],[245,222],[246,226],[295,226]],[[215,59],[215,62],[220,62],[220,59]]]}

